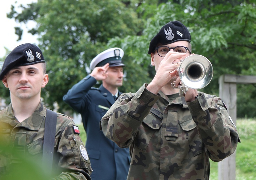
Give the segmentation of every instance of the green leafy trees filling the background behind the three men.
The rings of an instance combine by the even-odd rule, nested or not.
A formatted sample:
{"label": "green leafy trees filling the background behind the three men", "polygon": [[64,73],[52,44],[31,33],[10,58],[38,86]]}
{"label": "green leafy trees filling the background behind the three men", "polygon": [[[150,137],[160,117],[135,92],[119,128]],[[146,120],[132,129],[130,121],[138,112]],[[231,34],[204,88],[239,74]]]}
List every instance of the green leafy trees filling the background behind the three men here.
{"label": "green leafy trees filling the background behind the three men", "polygon": [[[191,33],[192,53],[207,57],[214,76],[202,91],[218,95],[222,74],[256,75],[256,0],[38,0],[8,15],[19,22],[33,20],[30,33],[40,36],[50,81],[42,97],[48,106],[58,102],[59,111],[69,107],[63,95],[85,77],[90,61],[109,47],[121,47],[125,56],[122,92],[135,92],[149,83],[155,70],[147,54],[150,40],[172,20]],[[22,29],[16,28],[22,36]],[[238,116],[250,114],[246,101],[255,100],[255,86],[243,87]],[[2,91],[2,90],[1,90]],[[70,108],[69,108],[70,109]],[[249,116],[256,116],[250,114]]]}

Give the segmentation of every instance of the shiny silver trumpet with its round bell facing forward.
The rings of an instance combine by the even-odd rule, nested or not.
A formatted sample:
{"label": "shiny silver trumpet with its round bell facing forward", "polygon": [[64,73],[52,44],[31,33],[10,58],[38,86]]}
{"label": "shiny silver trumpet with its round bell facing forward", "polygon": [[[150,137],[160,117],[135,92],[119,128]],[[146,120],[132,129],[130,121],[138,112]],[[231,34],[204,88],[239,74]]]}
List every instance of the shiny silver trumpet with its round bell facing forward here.
{"label": "shiny silver trumpet with its round bell facing forward", "polygon": [[202,55],[190,55],[186,57],[178,68],[181,85],[172,88],[179,89],[179,96],[185,96],[188,88],[201,89],[206,87],[213,77],[213,66],[210,61]]}

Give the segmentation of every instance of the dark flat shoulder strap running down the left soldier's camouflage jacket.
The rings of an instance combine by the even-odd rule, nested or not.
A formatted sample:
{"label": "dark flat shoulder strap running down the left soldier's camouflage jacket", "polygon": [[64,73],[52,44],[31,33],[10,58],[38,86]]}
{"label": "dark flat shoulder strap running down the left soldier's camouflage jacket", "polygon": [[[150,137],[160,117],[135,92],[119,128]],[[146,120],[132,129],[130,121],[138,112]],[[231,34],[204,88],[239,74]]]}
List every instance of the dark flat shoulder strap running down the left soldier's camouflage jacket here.
{"label": "dark flat shoulder strap running down the left soldier's camouflage jacket", "polygon": [[57,123],[57,112],[46,109],[46,124],[44,126],[43,138],[43,165],[51,173],[53,161],[53,148]]}

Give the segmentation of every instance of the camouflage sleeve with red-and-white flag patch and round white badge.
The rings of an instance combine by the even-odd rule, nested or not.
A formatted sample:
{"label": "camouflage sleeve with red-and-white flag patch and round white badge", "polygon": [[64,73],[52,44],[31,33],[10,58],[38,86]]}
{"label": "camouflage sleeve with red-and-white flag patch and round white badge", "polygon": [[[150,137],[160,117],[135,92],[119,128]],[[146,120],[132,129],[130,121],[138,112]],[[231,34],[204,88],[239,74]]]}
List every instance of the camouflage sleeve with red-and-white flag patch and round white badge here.
{"label": "camouflage sleeve with red-and-white flag patch and round white badge", "polygon": [[[92,173],[90,160],[84,144],[77,132],[74,121],[65,115],[58,115],[57,120],[57,148],[58,166],[60,175],[54,180],[91,180]],[[66,120],[65,120],[66,119]],[[58,126],[61,126],[60,128]]]}

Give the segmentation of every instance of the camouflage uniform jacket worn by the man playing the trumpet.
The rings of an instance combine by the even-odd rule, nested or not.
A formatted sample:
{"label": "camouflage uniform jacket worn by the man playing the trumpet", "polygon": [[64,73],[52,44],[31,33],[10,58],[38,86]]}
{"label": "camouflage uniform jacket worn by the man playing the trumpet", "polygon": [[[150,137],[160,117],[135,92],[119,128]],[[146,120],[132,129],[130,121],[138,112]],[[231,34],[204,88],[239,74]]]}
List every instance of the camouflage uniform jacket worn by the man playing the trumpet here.
{"label": "camouflage uniform jacket worn by the man playing the trumpet", "polygon": [[127,180],[208,180],[209,158],[223,160],[240,141],[223,101],[199,93],[170,102],[146,87],[121,95],[100,123],[118,146],[130,146]]}

